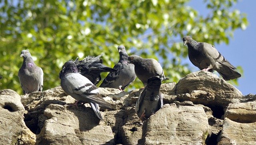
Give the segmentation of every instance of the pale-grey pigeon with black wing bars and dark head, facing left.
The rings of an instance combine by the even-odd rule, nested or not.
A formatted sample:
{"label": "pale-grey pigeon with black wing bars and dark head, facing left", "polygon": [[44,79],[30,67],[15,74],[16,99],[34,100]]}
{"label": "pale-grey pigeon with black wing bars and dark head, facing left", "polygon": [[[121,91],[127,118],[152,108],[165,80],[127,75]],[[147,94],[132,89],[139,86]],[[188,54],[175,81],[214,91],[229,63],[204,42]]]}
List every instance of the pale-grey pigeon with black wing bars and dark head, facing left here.
{"label": "pale-grey pigeon with black wing bars and dark head, facing left", "polygon": [[106,102],[99,93],[99,89],[88,78],[78,72],[78,68],[73,61],[68,61],[60,72],[60,85],[65,93],[78,101],[90,103],[94,113],[102,120],[99,105],[106,109],[111,109],[110,103]]}

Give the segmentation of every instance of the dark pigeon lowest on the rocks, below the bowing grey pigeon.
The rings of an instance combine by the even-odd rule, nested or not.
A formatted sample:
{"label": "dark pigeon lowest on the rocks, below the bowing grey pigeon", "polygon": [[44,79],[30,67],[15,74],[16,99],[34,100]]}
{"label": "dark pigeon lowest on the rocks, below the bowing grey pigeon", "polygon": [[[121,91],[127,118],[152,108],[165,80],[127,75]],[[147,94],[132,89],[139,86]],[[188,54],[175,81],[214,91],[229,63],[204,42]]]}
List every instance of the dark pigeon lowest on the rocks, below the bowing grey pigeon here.
{"label": "dark pigeon lowest on the rocks, below the bowing grey pigeon", "polygon": [[163,107],[163,98],[160,93],[161,79],[150,77],[148,85],[143,89],[136,102],[135,111],[143,121]]}

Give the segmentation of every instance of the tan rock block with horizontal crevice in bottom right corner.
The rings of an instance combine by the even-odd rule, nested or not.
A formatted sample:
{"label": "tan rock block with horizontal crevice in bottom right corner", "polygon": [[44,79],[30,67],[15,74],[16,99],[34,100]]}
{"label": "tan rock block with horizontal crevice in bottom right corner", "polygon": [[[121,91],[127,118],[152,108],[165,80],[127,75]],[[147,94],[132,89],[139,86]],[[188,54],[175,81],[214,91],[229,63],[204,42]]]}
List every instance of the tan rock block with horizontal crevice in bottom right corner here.
{"label": "tan rock block with horizontal crevice in bottom right corner", "polygon": [[256,102],[228,105],[218,145],[256,144]]}

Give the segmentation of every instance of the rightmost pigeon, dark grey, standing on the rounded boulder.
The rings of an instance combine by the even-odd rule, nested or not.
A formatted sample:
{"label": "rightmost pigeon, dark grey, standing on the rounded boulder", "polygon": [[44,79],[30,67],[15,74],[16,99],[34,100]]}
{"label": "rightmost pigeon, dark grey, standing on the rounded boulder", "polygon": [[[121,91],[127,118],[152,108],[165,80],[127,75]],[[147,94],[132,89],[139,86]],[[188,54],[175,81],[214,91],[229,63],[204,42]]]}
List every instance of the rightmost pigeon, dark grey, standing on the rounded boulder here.
{"label": "rightmost pigeon, dark grey, standing on the rounded boulder", "polygon": [[184,46],[188,46],[188,58],[200,70],[213,72],[217,71],[224,80],[236,79],[241,74],[216,50],[212,44],[196,42],[190,36],[183,39]]}

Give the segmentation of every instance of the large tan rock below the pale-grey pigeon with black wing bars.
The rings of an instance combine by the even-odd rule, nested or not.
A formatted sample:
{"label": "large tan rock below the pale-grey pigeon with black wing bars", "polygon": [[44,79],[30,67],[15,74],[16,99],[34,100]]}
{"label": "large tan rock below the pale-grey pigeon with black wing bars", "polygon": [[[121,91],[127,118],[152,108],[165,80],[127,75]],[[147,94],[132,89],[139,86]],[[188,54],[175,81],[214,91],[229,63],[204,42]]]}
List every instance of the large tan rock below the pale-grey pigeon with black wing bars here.
{"label": "large tan rock below the pale-grey pigeon with black wing bars", "polygon": [[50,104],[44,115],[48,119],[38,135],[38,144],[114,144],[111,127],[99,125],[90,107]]}

